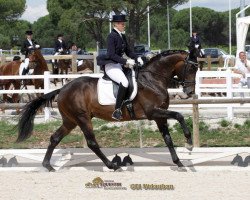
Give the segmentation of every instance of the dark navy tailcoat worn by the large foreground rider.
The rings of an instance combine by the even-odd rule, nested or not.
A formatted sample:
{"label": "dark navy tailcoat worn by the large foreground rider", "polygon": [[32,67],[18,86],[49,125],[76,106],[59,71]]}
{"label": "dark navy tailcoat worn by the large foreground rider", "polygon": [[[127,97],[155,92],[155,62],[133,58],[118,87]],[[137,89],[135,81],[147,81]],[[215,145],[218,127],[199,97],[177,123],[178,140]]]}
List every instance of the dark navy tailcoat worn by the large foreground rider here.
{"label": "dark navy tailcoat worn by the large foreground rider", "polygon": [[126,36],[120,34],[113,29],[107,38],[107,55],[101,55],[97,57],[97,64],[100,66],[108,63],[120,63],[125,65],[127,60],[123,58],[123,54],[126,54],[132,59],[136,59],[137,56],[128,46]]}

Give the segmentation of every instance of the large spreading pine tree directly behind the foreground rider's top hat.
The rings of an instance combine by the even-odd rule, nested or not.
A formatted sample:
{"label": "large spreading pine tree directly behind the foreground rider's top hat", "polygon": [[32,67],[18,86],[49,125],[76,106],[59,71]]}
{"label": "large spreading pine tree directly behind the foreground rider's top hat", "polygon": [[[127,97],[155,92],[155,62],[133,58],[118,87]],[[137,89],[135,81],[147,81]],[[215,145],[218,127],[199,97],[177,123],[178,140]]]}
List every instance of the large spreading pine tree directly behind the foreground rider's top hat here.
{"label": "large spreading pine tree directly behind the foreground rider's top hat", "polygon": [[[169,0],[170,6],[187,2],[187,0]],[[149,3],[149,4],[148,4]],[[108,33],[109,13],[126,13],[128,22],[127,34],[129,43],[140,42],[140,29],[146,19],[147,6],[150,12],[166,8],[163,0],[48,0],[47,8],[52,22],[67,32],[83,28],[100,46],[105,44]],[[70,26],[70,30],[67,28]],[[72,33],[70,33],[72,34]]]}

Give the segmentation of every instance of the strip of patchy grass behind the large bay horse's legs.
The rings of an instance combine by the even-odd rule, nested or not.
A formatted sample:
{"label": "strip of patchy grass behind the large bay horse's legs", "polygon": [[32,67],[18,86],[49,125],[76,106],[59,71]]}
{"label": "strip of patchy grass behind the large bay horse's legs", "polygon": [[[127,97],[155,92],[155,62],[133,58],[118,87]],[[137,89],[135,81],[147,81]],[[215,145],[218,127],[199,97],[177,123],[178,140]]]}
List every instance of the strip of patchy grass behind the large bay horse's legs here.
{"label": "strip of patchy grass behind the large bay horse's legs", "polygon": [[[192,119],[186,119],[192,132]],[[15,143],[17,131],[7,120],[0,121],[0,148],[47,148],[50,136],[60,127],[61,121],[35,124],[33,135],[22,143]],[[164,147],[164,140],[158,130],[146,128],[152,122],[142,123],[142,142],[144,147]],[[140,135],[137,125],[129,122],[125,125],[107,123],[104,120],[93,120],[96,140],[101,147],[139,147]],[[206,147],[250,146],[250,120],[243,125],[233,124],[226,120],[218,122],[218,127],[210,127],[205,122],[199,123],[200,144]],[[185,137],[179,124],[169,128],[175,146],[183,146]],[[75,128],[66,136],[58,148],[86,146],[80,128]]]}

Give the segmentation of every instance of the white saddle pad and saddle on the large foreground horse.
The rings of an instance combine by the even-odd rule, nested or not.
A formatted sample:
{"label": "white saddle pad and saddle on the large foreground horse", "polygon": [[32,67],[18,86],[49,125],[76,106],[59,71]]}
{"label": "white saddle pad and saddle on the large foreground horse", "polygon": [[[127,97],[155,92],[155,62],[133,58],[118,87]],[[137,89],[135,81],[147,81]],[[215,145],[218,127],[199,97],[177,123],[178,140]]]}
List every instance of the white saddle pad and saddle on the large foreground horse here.
{"label": "white saddle pad and saddle on the large foreground horse", "polygon": [[[137,82],[134,69],[125,68],[124,74],[128,79],[129,86],[125,102],[131,102],[137,94]],[[112,81],[104,70],[104,76],[97,83],[98,102],[101,105],[115,105],[119,84]]]}

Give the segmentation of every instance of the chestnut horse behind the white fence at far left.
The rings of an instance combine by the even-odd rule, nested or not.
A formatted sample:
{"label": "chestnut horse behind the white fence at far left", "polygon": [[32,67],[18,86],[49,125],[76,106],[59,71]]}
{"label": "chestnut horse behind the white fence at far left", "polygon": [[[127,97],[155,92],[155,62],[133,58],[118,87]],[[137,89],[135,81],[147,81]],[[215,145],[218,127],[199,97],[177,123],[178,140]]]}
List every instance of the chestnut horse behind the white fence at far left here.
{"label": "chestnut horse behind the white fence at far left", "polygon": [[[33,75],[41,75],[44,73],[44,71],[48,71],[47,63],[44,60],[40,49],[30,49],[28,53],[29,58],[29,68],[33,69]],[[0,75],[1,76],[18,76],[19,75],[19,68],[21,65],[20,60],[15,60],[12,62],[9,62],[5,65],[2,65],[0,67]],[[32,79],[32,80],[24,80],[23,81],[24,87],[27,85],[34,85],[35,89],[43,88],[44,87],[44,81],[42,79]],[[19,90],[21,88],[21,80],[20,79],[9,79],[9,80],[1,80],[0,85],[8,90],[11,85],[13,85],[15,90]],[[7,100],[7,94],[3,95],[3,100]],[[17,103],[19,101],[19,95],[13,94],[12,96],[12,102]]]}

